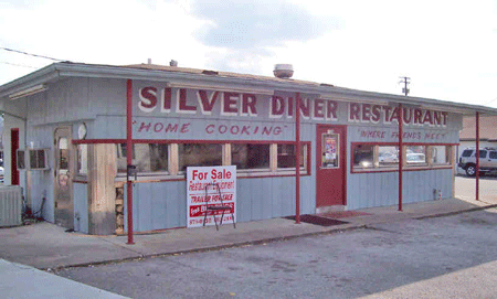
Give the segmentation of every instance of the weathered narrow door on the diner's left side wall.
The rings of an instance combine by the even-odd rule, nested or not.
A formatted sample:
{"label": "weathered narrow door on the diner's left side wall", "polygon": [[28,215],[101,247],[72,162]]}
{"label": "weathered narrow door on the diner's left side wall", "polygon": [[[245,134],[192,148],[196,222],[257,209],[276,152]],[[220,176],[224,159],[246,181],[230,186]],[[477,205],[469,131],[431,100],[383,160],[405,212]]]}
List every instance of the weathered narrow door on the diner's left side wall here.
{"label": "weathered narrow door on the diner's left side wall", "polygon": [[55,182],[54,204],[55,223],[63,227],[74,228],[73,218],[73,181],[71,173],[71,128],[55,129]]}

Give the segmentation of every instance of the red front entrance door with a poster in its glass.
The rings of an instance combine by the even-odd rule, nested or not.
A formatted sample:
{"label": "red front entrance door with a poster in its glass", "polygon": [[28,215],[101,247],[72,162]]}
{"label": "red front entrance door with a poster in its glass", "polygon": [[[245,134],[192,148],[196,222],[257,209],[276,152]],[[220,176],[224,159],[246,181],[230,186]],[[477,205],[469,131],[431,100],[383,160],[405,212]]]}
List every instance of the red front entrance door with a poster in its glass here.
{"label": "red front entrance door with a poster in its glass", "polygon": [[346,126],[316,128],[316,207],[346,204]]}

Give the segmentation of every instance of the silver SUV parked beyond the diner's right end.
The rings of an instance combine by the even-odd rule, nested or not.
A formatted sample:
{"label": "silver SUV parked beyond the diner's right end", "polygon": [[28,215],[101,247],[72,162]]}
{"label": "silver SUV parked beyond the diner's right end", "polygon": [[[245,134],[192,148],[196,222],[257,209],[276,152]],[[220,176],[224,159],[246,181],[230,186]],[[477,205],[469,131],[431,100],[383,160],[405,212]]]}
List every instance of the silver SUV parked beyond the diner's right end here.
{"label": "silver SUV parked beyond the diner's right end", "polygon": [[[457,165],[469,177],[476,175],[476,148],[463,150]],[[497,149],[483,148],[479,150],[479,173],[497,172]]]}

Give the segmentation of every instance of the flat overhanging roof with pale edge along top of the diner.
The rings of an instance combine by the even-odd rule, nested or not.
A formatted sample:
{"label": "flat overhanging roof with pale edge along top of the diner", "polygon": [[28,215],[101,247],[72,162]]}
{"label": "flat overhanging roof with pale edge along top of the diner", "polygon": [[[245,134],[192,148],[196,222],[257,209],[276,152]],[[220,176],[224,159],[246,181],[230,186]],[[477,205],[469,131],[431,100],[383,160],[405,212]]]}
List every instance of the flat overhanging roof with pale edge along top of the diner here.
{"label": "flat overhanging roof with pale edge along top of the diner", "polygon": [[251,74],[240,74],[210,70],[165,66],[155,64],[103,65],[61,62],[54,63],[0,86],[0,97],[6,97],[29,87],[53,83],[67,77],[120,78],[167,82],[171,86],[188,86],[205,89],[240,89],[252,93],[272,94],[274,90],[318,95],[343,102],[370,102],[382,105],[403,104],[421,106],[429,109],[474,115],[497,115],[497,108],[438,100],[432,98],[410,97],[384,93],[366,92],[332,84],[277,78]]}

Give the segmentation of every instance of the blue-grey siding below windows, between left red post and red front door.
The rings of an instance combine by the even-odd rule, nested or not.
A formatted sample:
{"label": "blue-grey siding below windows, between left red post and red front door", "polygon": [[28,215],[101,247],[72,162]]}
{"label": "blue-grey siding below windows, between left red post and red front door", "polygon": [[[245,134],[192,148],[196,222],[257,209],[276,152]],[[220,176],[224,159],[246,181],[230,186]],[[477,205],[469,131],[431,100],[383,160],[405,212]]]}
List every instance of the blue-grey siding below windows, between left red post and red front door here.
{"label": "blue-grey siding below windows, between left red post and red front door", "polygon": [[[302,179],[302,214],[315,213],[311,179]],[[146,232],[187,226],[186,182],[137,183],[133,192],[134,229]],[[295,178],[236,181],[237,222],[295,215]],[[125,220],[126,220],[125,188]],[[125,221],[125,229],[127,227]]]}

